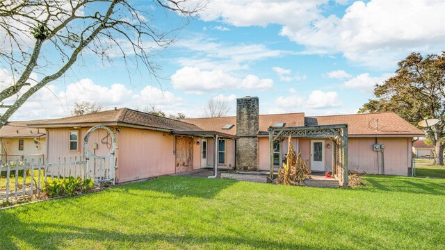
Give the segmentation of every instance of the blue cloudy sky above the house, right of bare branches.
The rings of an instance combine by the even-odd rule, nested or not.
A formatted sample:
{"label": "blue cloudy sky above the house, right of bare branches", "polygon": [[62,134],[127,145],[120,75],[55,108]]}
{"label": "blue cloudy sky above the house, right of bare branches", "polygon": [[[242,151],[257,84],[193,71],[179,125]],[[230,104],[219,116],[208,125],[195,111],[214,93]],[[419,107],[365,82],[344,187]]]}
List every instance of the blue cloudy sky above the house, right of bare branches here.
{"label": "blue cloudy sky above the house, right of bare branches", "polygon": [[[159,27],[184,23],[152,11]],[[209,1],[174,44],[153,51],[159,81],[127,72],[122,58],[86,56],[13,119],[67,116],[74,101],[201,117],[212,98],[229,101],[234,115],[245,95],[259,97],[262,114],[356,113],[399,60],[445,48],[444,12],[444,1]]]}

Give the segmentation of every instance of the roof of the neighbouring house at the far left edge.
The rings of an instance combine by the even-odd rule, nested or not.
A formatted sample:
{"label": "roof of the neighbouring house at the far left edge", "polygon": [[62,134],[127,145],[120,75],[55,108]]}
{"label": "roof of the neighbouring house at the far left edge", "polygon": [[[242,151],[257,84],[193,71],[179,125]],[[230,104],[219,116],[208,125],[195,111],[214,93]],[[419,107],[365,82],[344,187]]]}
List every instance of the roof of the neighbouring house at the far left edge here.
{"label": "roof of the neighbouring house at the far left edge", "polygon": [[6,122],[0,128],[0,138],[40,138],[43,128],[29,128],[26,124],[39,121]]}

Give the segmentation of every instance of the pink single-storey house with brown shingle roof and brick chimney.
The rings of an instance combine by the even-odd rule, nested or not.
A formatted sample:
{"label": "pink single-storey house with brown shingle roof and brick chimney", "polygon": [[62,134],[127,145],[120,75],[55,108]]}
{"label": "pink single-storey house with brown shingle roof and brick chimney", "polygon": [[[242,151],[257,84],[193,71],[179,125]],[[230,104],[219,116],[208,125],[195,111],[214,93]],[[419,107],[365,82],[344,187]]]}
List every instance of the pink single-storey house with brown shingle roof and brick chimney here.
{"label": "pink single-storey house with brown shingle roof and brick chimney", "polygon": [[[259,115],[257,97],[237,99],[236,116],[177,121],[128,108],[49,119],[31,127],[45,128],[46,153],[54,158],[80,157],[89,128],[103,125],[115,135],[115,181],[191,171],[204,167],[243,171],[270,171],[282,165],[288,140],[277,137],[289,131],[334,131],[347,128],[345,170],[369,174],[410,174],[412,141],[423,136],[394,113],[307,117],[305,113]],[[341,125],[341,126],[337,126]],[[307,129],[306,129],[307,128]],[[293,133],[294,149],[301,152],[313,172],[335,172],[337,139],[323,134],[305,138]],[[335,132],[334,134],[343,133]],[[333,134],[333,135],[334,135]],[[272,139],[273,138],[273,139]],[[88,144],[98,155],[110,149],[106,131],[95,131]],[[375,146],[378,145],[378,146]],[[375,149],[378,147],[378,149]]]}

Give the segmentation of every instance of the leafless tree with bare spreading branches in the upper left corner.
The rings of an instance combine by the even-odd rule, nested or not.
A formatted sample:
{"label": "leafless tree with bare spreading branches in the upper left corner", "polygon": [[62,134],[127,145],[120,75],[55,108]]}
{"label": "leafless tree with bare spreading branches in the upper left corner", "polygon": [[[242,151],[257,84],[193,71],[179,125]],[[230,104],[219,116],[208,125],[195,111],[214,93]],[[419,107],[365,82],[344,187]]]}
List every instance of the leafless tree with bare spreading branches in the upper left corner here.
{"label": "leafless tree with bare spreading branches in the upper left corner", "polygon": [[[126,0],[0,1],[0,70],[12,75],[0,84],[0,108],[6,108],[0,127],[29,97],[85,55],[103,61],[122,57],[127,69],[128,63],[143,66],[156,78],[159,65],[152,59],[152,49],[171,44],[204,6],[186,0],[153,0],[144,5],[151,3],[153,8],[138,10],[135,2]],[[149,13],[154,8],[178,13],[184,25],[165,28],[155,23]]]}

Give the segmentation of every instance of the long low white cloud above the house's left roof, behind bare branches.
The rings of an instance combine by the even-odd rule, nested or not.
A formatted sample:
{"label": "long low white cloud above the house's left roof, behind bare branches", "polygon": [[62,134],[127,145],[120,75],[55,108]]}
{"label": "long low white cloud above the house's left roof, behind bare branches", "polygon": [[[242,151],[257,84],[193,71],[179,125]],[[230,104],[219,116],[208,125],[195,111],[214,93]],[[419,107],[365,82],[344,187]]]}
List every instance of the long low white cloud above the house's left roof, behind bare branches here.
{"label": "long low white cloud above the house's left roof, behind bare branches", "polygon": [[[11,81],[7,71],[0,69],[1,81]],[[26,87],[28,88],[28,87]],[[6,99],[8,105],[15,100],[15,96]],[[116,107],[145,108],[156,106],[168,114],[178,112],[188,113],[181,98],[169,91],[160,90],[153,86],[146,86],[143,90],[133,93],[122,84],[113,84],[110,87],[97,85],[91,79],[84,78],[76,83],[71,83],[64,90],[56,85],[47,85],[35,92],[11,117],[11,120],[19,119],[49,119],[70,116],[70,111],[77,101],[90,101],[104,106],[106,109]]]}

